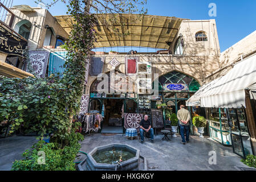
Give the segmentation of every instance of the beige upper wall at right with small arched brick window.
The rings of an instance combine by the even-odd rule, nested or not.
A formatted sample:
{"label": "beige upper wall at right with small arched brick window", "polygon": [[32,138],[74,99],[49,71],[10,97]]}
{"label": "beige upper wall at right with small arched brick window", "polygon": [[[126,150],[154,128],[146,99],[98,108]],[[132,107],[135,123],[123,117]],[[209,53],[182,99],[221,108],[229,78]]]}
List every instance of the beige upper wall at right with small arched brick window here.
{"label": "beige upper wall at right with small arched brick window", "polygon": [[[198,31],[204,31],[208,37],[208,41],[197,42],[196,33]],[[184,20],[173,41],[171,47],[172,52],[174,52],[174,46],[180,34],[182,34],[182,38],[184,39],[183,55],[204,57],[202,66],[205,68],[205,75],[209,75],[220,68],[220,44],[218,41],[216,21],[214,19]]]}

